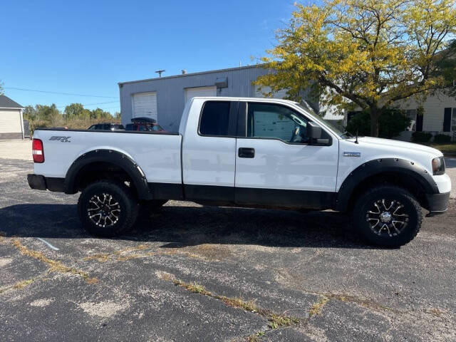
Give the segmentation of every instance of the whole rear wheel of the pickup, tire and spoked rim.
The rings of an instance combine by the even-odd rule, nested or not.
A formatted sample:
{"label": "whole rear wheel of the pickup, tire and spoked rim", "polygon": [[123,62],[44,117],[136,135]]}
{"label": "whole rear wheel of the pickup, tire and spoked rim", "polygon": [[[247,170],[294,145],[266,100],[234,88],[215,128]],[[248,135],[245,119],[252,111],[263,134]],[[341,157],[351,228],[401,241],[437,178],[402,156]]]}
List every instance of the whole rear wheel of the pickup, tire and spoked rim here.
{"label": "whole rear wheel of the pickup, tire and spoked rim", "polygon": [[138,217],[138,200],[121,183],[99,181],[86,187],[78,200],[84,229],[99,237],[127,232]]}

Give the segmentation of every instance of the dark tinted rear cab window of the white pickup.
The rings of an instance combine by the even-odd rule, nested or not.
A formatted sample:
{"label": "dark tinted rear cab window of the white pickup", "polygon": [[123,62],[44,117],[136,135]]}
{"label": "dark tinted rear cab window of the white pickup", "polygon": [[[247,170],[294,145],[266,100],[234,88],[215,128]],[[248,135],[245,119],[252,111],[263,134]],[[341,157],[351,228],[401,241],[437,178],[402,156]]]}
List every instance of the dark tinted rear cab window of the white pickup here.
{"label": "dark tinted rear cab window of the white pickup", "polygon": [[207,101],[204,103],[199,133],[202,135],[227,136],[229,134],[229,102]]}

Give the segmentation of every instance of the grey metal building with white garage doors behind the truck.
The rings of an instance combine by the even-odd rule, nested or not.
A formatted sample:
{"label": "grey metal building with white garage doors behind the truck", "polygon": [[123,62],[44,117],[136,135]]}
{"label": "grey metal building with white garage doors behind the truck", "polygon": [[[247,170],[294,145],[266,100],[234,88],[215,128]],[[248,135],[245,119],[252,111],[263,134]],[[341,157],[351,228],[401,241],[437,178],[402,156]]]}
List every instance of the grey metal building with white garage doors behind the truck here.
{"label": "grey metal building with white garage doors behind the truck", "polygon": [[[264,97],[267,89],[259,91],[252,84],[270,69],[261,66],[244,66],[202,73],[185,73],[176,76],[149,78],[119,83],[122,123],[131,118],[147,116],[157,120],[170,132],[179,129],[180,116],[189,98],[195,96]],[[284,98],[286,90],[274,93],[274,98]],[[318,110],[318,99],[311,98],[304,90],[302,97]]]}

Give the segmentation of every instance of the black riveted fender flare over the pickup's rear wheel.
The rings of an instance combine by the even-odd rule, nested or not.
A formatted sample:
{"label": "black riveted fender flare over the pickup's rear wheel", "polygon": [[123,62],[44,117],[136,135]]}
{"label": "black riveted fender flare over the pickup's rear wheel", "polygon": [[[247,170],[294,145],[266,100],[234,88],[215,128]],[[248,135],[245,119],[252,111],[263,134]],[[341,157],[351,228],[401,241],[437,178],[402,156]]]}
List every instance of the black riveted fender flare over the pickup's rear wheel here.
{"label": "black riveted fender flare over the pickup's rear wheel", "polygon": [[128,155],[115,150],[92,150],[79,156],[66,172],[65,182],[63,183],[67,194],[76,194],[76,177],[83,167],[93,162],[110,162],[127,172],[138,191],[140,199],[151,199],[149,187],[144,172],[139,165]]}

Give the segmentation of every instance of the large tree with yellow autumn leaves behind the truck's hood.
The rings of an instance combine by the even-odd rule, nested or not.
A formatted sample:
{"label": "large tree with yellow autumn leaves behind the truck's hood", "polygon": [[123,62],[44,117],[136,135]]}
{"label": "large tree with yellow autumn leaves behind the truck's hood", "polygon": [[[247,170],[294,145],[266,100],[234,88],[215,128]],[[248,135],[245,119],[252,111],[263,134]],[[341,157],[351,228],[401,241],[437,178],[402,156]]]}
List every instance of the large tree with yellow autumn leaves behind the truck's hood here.
{"label": "large tree with yellow autumn leaves behind the truck's hood", "polygon": [[298,4],[262,58],[275,72],[256,83],[288,89],[294,100],[311,87],[324,105],[368,110],[371,135],[378,136],[380,114],[394,101],[447,91],[456,79],[455,33],[455,0]]}

